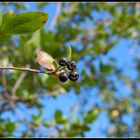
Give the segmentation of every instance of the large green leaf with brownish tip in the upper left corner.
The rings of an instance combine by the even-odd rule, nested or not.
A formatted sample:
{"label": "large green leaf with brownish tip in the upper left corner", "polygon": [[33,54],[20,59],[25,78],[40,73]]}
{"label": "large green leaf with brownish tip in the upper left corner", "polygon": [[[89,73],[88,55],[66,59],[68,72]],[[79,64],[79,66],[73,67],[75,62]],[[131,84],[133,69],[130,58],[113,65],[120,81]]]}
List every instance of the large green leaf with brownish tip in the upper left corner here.
{"label": "large green leaf with brownish tip in the upper left corner", "polygon": [[2,31],[6,34],[33,33],[40,29],[48,20],[45,12],[25,12],[13,14],[8,22],[3,22]]}

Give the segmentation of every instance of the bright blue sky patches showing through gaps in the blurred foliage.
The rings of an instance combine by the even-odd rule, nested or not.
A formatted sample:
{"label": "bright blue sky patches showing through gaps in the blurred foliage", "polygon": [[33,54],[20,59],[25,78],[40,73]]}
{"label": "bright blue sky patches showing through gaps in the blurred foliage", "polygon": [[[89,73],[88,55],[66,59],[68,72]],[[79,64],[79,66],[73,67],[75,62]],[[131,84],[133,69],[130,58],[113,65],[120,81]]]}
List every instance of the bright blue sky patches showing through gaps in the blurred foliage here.
{"label": "bright blue sky patches showing through gaps in the blurred foliage", "polygon": [[[36,10],[35,3],[28,2],[27,5],[29,6],[28,11]],[[49,20],[45,25],[46,30],[53,20],[53,17],[55,15],[55,10],[56,10],[56,3],[51,3],[50,5],[41,9],[41,11],[48,12],[50,15]],[[99,16],[101,16],[95,12],[93,13],[93,15],[95,15],[95,17],[97,19],[99,18]],[[90,23],[89,21],[87,21],[86,24],[88,26],[92,26],[92,23]],[[82,25],[82,26],[84,27],[84,25]],[[132,57],[130,49],[129,49],[131,47],[131,45],[132,45],[131,40],[121,39],[120,42],[107,55],[110,57],[112,56],[112,57],[116,58],[117,67],[123,68],[124,74],[128,75],[133,80],[137,77],[137,73],[135,71],[133,57]],[[107,61],[106,58],[103,58],[103,59],[105,62]],[[97,64],[98,64],[98,62],[97,62]],[[81,64],[78,65],[79,68],[80,68],[80,66],[81,66]],[[129,96],[130,91],[128,89],[126,89],[121,82],[118,82],[117,88],[118,88],[119,92],[116,94],[116,97]],[[126,94],[124,95],[123,93],[126,93]],[[83,90],[82,95],[83,94],[87,94],[87,92],[85,90]],[[89,94],[92,94],[92,96],[94,96],[96,100],[89,99],[87,106],[94,105],[96,102],[98,102],[101,106],[104,105],[100,99],[98,91],[95,88],[91,89]],[[50,120],[53,117],[56,109],[62,110],[64,115],[69,117],[69,115],[70,115],[69,108],[72,105],[74,105],[78,100],[79,100],[79,97],[77,95],[75,95],[73,90],[71,90],[69,93],[67,93],[65,95],[58,96],[56,99],[48,98],[48,97],[44,98],[43,99],[44,113],[42,115],[42,118],[47,118],[48,120]],[[37,113],[37,111],[35,109],[31,110],[31,112],[33,112],[34,114]],[[77,115],[79,115],[79,114],[77,113]],[[7,118],[9,118],[10,116],[11,116],[10,113],[6,113],[3,115],[3,117],[7,117]],[[133,120],[130,115],[125,114],[123,116],[123,121],[125,123],[127,123],[128,126],[133,125]],[[106,137],[107,135],[104,130],[108,129],[109,126],[110,126],[110,123],[109,123],[109,119],[108,119],[108,114],[106,112],[101,112],[99,115],[99,118],[95,122],[90,124],[90,127],[92,128],[92,130],[90,132],[86,132],[86,136],[87,137],[93,137],[93,136],[94,137]],[[20,129],[24,130],[24,126],[21,126]],[[101,130],[103,130],[103,131],[101,131]],[[16,132],[15,135],[20,136],[20,133]]]}

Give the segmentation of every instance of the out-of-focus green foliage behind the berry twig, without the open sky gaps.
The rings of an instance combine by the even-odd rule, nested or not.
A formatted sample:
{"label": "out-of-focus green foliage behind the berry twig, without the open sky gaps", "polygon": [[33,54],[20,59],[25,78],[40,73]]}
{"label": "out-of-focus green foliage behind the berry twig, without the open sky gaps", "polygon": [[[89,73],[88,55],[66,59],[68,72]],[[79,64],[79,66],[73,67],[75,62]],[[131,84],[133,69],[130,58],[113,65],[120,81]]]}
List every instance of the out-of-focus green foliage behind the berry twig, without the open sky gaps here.
{"label": "out-of-focus green foliage behind the berry twig, without the open sky gaps", "polygon": [[[24,3],[1,2],[0,5],[3,6],[4,12],[7,12],[11,5],[15,8],[14,13],[20,13],[20,10],[25,9],[28,11],[28,7]],[[36,3],[39,10],[46,5],[49,3]],[[14,136],[19,125],[25,124],[26,130],[22,133],[22,137],[36,136],[40,127],[45,127],[47,130],[55,128],[54,134],[44,133],[44,136],[48,137],[84,137],[85,132],[90,131],[89,124],[92,124],[98,118],[99,113],[104,111],[108,113],[114,128],[106,132],[108,136],[140,136],[140,88],[138,87],[140,74],[136,80],[131,80],[123,74],[122,69],[117,68],[115,59],[106,56],[122,38],[131,39],[134,42],[139,41],[140,14],[137,9],[139,3],[58,3],[58,5],[61,5],[61,14],[57,17],[55,31],[46,31],[42,27],[37,32],[14,36],[15,39],[8,36],[5,41],[0,42],[0,65],[24,67],[29,64],[32,68],[38,69],[37,48],[42,48],[58,60],[61,56],[66,55],[63,46],[72,43],[72,59],[77,63],[83,63],[80,68],[80,80],[76,83],[62,84],[57,77],[37,76],[34,73],[23,75],[19,71],[1,71],[0,85],[3,87],[3,91],[0,94],[0,115],[11,111],[19,119],[16,120],[16,123],[12,120],[0,119],[0,136]],[[101,15],[99,19],[94,17],[94,12]],[[110,18],[106,18],[104,13],[109,14]],[[0,25],[1,20],[0,13]],[[86,25],[87,20],[93,23],[92,27]],[[9,22],[8,24],[11,26]],[[23,29],[25,28],[23,27]],[[6,30],[6,32],[8,31],[9,29]],[[4,33],[3,30],[0,30],[0,36]],[[78,46],[81,48],[79,49]],[[102,56],[108,57],[108,64],[103,63]],[[99,61],[99,70],[93,63],[95,60]],[[140,62],[137,57],[135,60],[137,71],[140,71]],[[114,98],[113,95],[117,89],[113,79],[107,79],[110,76],[115,76],[119,81],[123,81],[125,86],[131,86],[133,93],[131,98]],[[21,77],[23,77],[22,83],[15,88]],[[39,100],[40,96],[49,95],[51,98],[57,98],[61,94],[67,94],[71,89],[74,89],[75,94],[80,96],[83,89],[90,90],[94,87],[98,87],[102,102],[106,106],[96,105],[91,106],[89,110],[82,109],[80,119],[72,110],[69,118],[64,116],[60,110],[56,110],[51,121],[41,118],[43,110]],[[88,102],[87,98],[84,99],[83,104],[86,102]],[[26,106],[27,112],[36,108],[39,114],[35,116],[25,111],[26,116],[30,117],[30,121],[20,117],[20,104]],[[122,122],[123,114],[131,114],[135,120],[131,132]]]}

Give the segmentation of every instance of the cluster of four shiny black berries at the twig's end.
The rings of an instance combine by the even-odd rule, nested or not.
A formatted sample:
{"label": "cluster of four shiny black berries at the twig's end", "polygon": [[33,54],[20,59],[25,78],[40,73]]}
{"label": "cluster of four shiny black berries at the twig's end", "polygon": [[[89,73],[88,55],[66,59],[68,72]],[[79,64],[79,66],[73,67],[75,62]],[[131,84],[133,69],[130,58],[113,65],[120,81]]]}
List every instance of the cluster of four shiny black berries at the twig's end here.
{"label": "cluster of four shiny black berries at the twig's end", "polygon": [[61,82],[66,82],[68,79],[71,81],[77,81],[79,79],[79,74],[76,71],[76,63],[75,61],[67,61],[65,57],[60,58],[59,65],[61,67],[67,66],[69,71],[65,71],[59,74],[59,80]]}

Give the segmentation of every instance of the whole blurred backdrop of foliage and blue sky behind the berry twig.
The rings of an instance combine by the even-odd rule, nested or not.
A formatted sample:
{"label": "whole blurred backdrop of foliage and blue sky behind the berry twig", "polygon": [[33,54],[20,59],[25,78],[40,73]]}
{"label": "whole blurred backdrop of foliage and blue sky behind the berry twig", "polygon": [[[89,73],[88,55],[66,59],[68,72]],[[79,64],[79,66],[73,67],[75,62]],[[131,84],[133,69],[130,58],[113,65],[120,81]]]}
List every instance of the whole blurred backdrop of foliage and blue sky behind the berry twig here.
{"label": "whole blurred backdrop of foliage and blue sky behind the berry twig", "polygon": [[1,137],[139,137],[140,3],[1,2],[44,11],[45,26],[0,43],[0,65],[42,69],[36,49],[57,61],[72,47],[78,82],[0,71]]}

